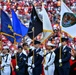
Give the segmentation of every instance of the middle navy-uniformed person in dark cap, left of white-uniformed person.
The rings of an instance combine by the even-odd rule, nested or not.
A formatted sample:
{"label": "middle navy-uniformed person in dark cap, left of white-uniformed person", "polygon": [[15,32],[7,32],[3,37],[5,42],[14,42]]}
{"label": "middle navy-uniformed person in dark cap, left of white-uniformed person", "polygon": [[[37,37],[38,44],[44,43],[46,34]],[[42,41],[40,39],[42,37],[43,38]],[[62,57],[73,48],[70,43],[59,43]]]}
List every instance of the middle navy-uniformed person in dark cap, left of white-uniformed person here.
{"label": "middle navy-uniformed person in dark cap, left of white-uniformed person", "polygon": [[[34,41],[34,45],[35,45],[35,49],[29,53],[29,56],[33,56],[33,60],[32,60],[32,69],[33,69],[33,75],[40,75],[42,73],[42,60],[43,57],[40,53],[41,49],[39,48],[39,41]],[[34,55],[33,55],[34,53]]]}

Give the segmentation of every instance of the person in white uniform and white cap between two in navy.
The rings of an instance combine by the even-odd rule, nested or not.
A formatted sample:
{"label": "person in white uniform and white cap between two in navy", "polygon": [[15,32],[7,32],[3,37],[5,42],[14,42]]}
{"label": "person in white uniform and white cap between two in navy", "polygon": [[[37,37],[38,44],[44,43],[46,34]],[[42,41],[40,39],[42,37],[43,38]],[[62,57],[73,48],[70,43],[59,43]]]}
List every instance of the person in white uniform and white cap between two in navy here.
{"label": "person in white uniform and white cap between two in navy", "polygon": [[53,50],[53,47],[55,46],[54,44],[48,42],[47,46],[50,46],[51,48],[47,50],[45,54],[45,64],[44,64],[44,73],[45,75],[54,75],[54,70],[55,70],[55,53]]}

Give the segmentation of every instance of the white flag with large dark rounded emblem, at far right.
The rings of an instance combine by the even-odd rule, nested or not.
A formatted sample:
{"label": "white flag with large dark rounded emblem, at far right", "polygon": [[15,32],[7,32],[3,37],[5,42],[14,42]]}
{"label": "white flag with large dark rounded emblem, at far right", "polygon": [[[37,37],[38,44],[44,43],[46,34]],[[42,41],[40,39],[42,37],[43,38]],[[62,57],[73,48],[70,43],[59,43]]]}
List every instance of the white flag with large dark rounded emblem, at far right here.
{"label": "white flag with large dark rounded emblem, at far right", "polygon": [[64,2],[61,2],[60,25],[63,31],[67,32],[72,37],[76,36],[76,16]]}

